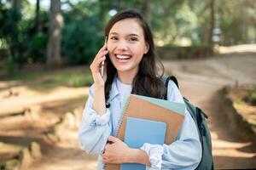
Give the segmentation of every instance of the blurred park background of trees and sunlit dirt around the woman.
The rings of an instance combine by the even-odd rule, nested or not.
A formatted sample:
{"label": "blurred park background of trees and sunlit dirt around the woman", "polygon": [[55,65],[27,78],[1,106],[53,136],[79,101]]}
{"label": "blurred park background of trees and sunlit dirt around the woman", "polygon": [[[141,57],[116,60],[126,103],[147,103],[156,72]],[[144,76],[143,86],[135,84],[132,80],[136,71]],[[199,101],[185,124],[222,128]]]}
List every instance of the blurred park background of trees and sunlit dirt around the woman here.
{"label": "blurred park background of trees and sunlit dirt around the woman", "polygon": [[0,0],[0,169],[96,169],[78,127],[123,8],[148,20],[166,75],[210,117],[215,167],[256,168],[254,0]]}

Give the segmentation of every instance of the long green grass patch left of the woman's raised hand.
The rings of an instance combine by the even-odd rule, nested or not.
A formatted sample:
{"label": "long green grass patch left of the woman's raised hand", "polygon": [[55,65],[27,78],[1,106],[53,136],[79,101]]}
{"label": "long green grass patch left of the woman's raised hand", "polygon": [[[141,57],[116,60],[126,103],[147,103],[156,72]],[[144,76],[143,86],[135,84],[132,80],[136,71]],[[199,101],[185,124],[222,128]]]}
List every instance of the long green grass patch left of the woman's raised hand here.
{"label": "long green grass patch left of the woman's raised hand", "polygon": [[32,82],[30,88],[36,90],[49,90],[58,86],[84,87],[90,86],[94,81],[88,66],[64,68],[60,70],[27,71],[5,77],[4,81]]}

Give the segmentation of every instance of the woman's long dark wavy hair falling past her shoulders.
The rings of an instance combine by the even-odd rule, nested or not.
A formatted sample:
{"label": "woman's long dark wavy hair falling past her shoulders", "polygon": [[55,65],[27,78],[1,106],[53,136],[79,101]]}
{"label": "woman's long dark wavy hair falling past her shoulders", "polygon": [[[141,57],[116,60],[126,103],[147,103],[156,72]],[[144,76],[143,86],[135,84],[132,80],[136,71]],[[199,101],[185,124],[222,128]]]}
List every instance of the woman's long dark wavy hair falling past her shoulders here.
{"label": "woman's long dark wavy hair falling past her shoulders", "polygon": [[[108,21],[105,27],[105,35],[108,37],[109,31],[113,25],[119,20],[136,19],[139,25],[143,28],[145,42],[148,43],[148,53],[143,55],[143,59],[139,64],[137,75],[132,82],[131,94],[140,94],[148,97],[163,99],[166,94],[166,86],[160,80],[164,75],[164,66],[160,62],[154,51],[154,40],[150,28],[144,20],[142,14],[138,13],[135,9],[125,9],[115,14],[111,20]],[[117,70],[113,66],[109,57],[107,58],[107,81],[105,83],[105,99],[108,101],[109,92],[112,87],[113,79]],[[159,67],[158,67],[159,66]],[[158,71],[158,69],[160,71]],[[160,72],[160,74],[158,74]]]}

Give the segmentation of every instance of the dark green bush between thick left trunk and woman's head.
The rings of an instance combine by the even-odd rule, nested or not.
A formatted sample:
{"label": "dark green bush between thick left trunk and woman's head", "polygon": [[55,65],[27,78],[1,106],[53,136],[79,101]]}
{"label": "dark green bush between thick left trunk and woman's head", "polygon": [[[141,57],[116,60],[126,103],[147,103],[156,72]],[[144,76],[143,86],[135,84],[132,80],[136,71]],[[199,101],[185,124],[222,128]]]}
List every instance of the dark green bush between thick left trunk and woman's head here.
{"label": "dark green bush between thick left trunk and woman's head", "polygon": [[90,63],[103,44],[99,20],[84,17],[63,28],[62,52],[69,65]]}

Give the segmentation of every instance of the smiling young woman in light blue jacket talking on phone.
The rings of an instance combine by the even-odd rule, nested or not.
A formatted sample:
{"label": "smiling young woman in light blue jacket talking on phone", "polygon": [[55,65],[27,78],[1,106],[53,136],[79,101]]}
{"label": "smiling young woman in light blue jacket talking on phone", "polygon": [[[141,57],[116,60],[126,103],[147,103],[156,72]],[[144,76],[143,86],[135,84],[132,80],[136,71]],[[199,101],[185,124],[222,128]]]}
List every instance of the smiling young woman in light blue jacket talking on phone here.
{"label": "smiling young woman in light blue jacket talking on phone", "polygon": [[[167,89],[160,80],[164,71],[161,64],[162,74],[158,74],[152,33],[141,14],[133,9],[120,11],[109,20],[105,35],[107,45],[90,65],[95,83],[79,127],[81,149],[99,155],[98,169],[103,169],[104,163],[125,162],[142,163],[151,169],[195,169],[201,161],[201,143],[188,111],[180,138],[170,145],[144,144],[133,149],[114,137],[125,94],[163,99]],[[167,92],[168,100],[183,103],[174,82],[169,82]]]}

